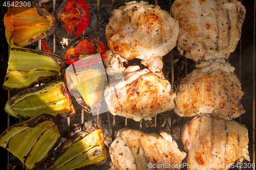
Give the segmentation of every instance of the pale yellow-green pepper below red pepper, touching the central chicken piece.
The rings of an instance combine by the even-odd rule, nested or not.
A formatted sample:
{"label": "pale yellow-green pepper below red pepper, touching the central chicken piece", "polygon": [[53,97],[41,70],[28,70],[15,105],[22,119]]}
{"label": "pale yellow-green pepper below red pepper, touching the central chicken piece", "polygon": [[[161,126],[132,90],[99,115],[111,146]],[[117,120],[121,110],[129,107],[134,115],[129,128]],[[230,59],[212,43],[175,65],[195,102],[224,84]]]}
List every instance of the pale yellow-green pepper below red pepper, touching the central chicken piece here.
{"label": "pale yellow-green pepper below red pepper, touching the central chicken piece", "polygon": [[[94,59],[98,61],[100,55],[84,58],[84,63]],[[81,108],[89,113],[96,112],[104,100],[103,90],[107,84],[106,73],[102,61],[83,68],[75,67],[76,62],[66,69],[65,80]]]}

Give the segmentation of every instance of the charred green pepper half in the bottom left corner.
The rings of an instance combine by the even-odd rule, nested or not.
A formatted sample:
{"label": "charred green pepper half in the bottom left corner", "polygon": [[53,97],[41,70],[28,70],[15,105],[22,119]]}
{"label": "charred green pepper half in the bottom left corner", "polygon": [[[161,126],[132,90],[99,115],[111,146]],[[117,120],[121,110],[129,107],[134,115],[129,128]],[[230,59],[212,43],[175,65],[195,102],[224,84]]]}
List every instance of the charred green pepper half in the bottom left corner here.
{"label": "charred green pepper half in the bottom left corner", "polygon": [[0,135],[0,145],[31,169],[53,153],[60,140],[60,127],[54,115],[40,114],[6,129]]}

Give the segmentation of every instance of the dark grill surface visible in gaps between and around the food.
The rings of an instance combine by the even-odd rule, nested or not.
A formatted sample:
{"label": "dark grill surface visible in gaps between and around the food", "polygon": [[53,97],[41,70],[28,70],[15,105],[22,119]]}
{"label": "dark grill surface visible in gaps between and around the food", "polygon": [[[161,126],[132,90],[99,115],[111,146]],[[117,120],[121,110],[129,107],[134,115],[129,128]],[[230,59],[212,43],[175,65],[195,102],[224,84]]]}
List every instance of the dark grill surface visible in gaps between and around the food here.
{"label": "dark grill surface visible in gaps between and around the food", "polygon": [[[53,0],[41,0],[42,4],[46,4],[44,8],[53,13],[53,10],[56,11],[58,5],[61,1],[56,0],[56,6],[52,8]],[[7,1],[1,1],[1,18],[0,22],[0,34],[1,34],[1,74],[0,81],[3,85],[4,78],[6,74],[6,69],[8,65],[8,44],[5,38],[5,27],[3,23],[4,15],[7,12],[7,7],[4,7],[3,4]],[[35,4],[38,4],[38,0],[34,1]],[[44,3],[47,2],[47,3]],[[89,35],[91,37],[99,38],[105,45],[105,26],[109,21],[109,16],[111,16],[112,8],[119,7],[124,5],[124,2],[121,0],[86,0],[90,9],[90,23],[86,31],[84,31],[84,35]],[[113,3],[114,2],[114,3]],[[155,1],[147,1],[150,4],[156,4],[161,7],[161,9],[169,12],[170,5],[174,2],[173,0],[164,1],[164,0],[156,0]],[[242,1],[242,4],[246,8],[246,18],[242,27],[242,35],[239,44],[237,45],[236,51],[231,53],[229,59],[227,60],[232,66],[236,68],[235,73],[240,78],[240,82],[242,83],[242,90],[244,91],[244,95],[242,97],[241,103],[244,106],[246,112],[240,117],[235,119],[237,122],[244,124],[248,129],[249,133],[249,156],[250,163],[255,163],[255,3],[256,0],[246,0]],[[55,37],[56,43],[53,43],[54,36],[51,35],[46,41],[50,44],[50,50],[55,51],[55,54],[60,55],[63,51],[63,46],[58,42],[61,38],[62,34],[60,33],[59,28],[56,29]],[[72,40],[69,41],[69,43]],[[33,43],[28,46],[29,48],[38,49],[38,42]],[[40,46],[39,46],[40,48]],[[136,60],[136,59],[135,59]],[[133,61],[129,64],[138,64],[139,61]],[[164,76],[171,84],[173,84],[174,90],[178,88],[181,79],[184,78],[189,72],[191,72],[195,68],[195,62],[189,59],[185,59],[181,57],[178,53],[177,47],[174,48],[172,52],[169,52],[166,56],[163,57],[163,72]],[[2,113],[0,114],[0,133],[2,133],[8,127],[8,114],[4,111],[4,106],[8,100],[8,91],[0,88],[0,105],[2,108]],[[10,93],[10,96],[15,93]],[[176,115],[173,110],[158,114],[156,118],[153,117],[151,121],[142,120],[141,123],[135,122],[132,119],[125,119],[124,117],[115,116],[112,114],[105,112],[97,116],[92,116],[89,113],[86,113],[81,110],[80,106],[75,102],[73,103],[76,109],[76,115],[71,117],[70,119],[63,119],[62,123],[64,124],[63,129],[63,137],[67,138],[68,135],[73,135],[75,132],[80,131],[81,128],[89,129],[91,126],[99,126],[104,130],[105,135],[105,143],[106,145],[110,145],[114,137],[116,136],[116,132],[121,128],[131,128],[142,130],[146,133],[159,133],[161,131],[166,131],[169,134],[174,136],[174,139],[177,141],[179,145],[179,149],[183,151],[183,145],[180,139],[180,131],[183,125],[190,120],[191,118],[179,117]],[[81,121],[81,117],[83,117]],[[18,119],[10,117],[10,125],[19,123]],[[68,120],[68,122],[67,122]],[[68,126],[67,124],[69,124]],[[81,126],[81,123],[84,123],[84,126]],[[127,125],[125,125],[127,123]],[[114,130],[114,131],[113,131]],[[115,133],[112,133],[115,132]],[[7,151],[0,147],[0,169],[7,169],[7,162],[9,162],[9,168],[12,169],[25,169],[25,166],[20,163],[14,156],[10,154],[10,158],[8,160]],[[98,169],[107,169],[109,168],[110,157],[107,163],[103,166],[98,167]],[[186,161],[183,160],[184,162]],[[248,161],[244,161],[243,163],[249,163]],[[91,168],[94,169],[94,168]],[[95,168],[96,169],[96,168]],[[185,168],[184,168],[185,169]],[[230,168],[231,169],[231,168]],[[239,168],[234,168],[239,169]],[[241,169],[255,169],[255,168],[241,168]]]}

